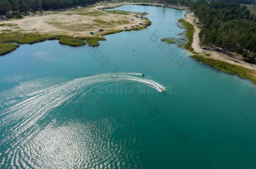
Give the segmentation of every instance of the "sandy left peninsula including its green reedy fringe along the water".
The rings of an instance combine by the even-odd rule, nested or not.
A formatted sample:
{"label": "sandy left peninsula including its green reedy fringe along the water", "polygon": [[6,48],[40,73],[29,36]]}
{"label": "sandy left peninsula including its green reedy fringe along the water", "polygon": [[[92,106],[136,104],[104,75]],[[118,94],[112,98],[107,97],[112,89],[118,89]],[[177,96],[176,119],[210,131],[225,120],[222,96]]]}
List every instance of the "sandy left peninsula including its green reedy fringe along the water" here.
{"label": "sandy left peninsula including its green reedy fringe along the water", "polygon": [[[125,4],[109,4],[108,7],[115,8]],[[18,44],[33,44],[44,40],[57,39],[60,44],[70,46],[82,46],[86,42],[90,46],[98,46],[99,40],[105,40],[103,35],[141,30],[151,25],[151,21],[144,17],[148,13],[118,10],[110,12],[103,10],[104,6],[99,3],[90,8],[62,12],[43,11],[42,15],[26,16],[20,20],[0,21],[0,31],[2,32],[0,34],[0,55],[15,50],[18,48]],[[143,16],[144,20],[134,17],[135,14]],[[140,26],[131,27],[134,25]],[[99,29],[104,29],[104,31],[98,31]]]}

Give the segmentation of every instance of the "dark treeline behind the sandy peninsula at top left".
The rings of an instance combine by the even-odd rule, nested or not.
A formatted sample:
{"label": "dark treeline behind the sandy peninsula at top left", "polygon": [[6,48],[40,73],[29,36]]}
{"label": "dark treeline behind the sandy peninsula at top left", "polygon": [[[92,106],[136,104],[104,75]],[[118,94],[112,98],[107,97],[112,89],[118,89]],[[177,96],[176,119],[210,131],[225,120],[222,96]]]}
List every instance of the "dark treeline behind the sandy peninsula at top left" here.
{"label": "dark treeline behind the sandy peninsula at top left", "polygon": [[96,0],[0,0],[0,15],[93,4]]}

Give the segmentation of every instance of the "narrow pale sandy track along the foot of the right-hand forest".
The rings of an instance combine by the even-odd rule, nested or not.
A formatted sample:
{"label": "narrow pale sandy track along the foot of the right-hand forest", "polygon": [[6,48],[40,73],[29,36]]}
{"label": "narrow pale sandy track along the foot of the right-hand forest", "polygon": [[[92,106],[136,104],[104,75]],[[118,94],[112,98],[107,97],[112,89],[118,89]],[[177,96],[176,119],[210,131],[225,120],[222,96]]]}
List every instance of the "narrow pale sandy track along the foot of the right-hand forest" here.
{"label": "narrow pale sandy track along the foot of the right-hand forest", "polygon": [[[236,56],[236,53],[233,53],[233,52],[219,53],[216,51],[216,48],[212,48],[209,46],[206,47],[204,45],[202,47],[206,47],[206,50],[201,49],[201,46],[199,44],[200,43],[199,35],[198,35],[200,29],[196,25],[196,22],[198,22],[197,18],[195,17],[195,15],[193,15],[193,13],[188,11],[186,14],[185,20],[191,23],[195,28],[194,35],[193,35],[193,43],[191,45],[194,48],[195,52],[198,52],[204,57],[218,59],[220,61],[225,61],[237,66],[243,66],[245,68],[253,69],[256,71],[256,64],[246,63],[245,61],[243,61],[241,55]],[[210,56],[206,55],[207,53],[210,54]]]}

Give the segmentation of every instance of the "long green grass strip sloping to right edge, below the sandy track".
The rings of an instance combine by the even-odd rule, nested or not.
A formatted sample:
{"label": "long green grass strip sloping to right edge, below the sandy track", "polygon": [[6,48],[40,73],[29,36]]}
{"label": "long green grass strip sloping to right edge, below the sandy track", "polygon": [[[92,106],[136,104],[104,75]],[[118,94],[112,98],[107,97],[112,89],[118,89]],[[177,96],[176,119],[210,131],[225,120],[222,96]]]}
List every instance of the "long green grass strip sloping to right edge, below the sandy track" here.
{"label": "long green grass strip sloping to right edge, below the sandy track", "polygon": [[213,58],[205,58],[201,55],[191,55],[190,57],[195,59],[196,61],[217,68],[223,72],[239,75],[241,78],[247,78],[254,84],[256,84],[256,72],[251,69],[244,68],[242,66],[236,66]]}

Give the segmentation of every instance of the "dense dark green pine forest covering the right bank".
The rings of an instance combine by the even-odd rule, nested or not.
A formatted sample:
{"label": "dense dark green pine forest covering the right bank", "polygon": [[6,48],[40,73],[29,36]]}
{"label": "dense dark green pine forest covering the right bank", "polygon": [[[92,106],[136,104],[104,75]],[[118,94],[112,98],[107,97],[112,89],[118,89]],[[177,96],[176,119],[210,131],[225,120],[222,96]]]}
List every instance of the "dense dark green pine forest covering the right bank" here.
{"label": "dense dark green pine forest covering the right bank", "polygon": [[203,43],[243,53],[245,60],[255,63],[256,15],[251,14],[245,5],[234,1],[208,3],[206,0],[187,5],[199,18],[199,37]]}

